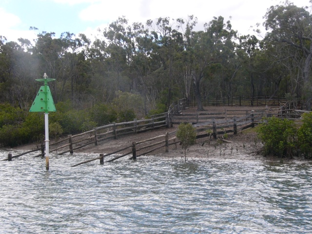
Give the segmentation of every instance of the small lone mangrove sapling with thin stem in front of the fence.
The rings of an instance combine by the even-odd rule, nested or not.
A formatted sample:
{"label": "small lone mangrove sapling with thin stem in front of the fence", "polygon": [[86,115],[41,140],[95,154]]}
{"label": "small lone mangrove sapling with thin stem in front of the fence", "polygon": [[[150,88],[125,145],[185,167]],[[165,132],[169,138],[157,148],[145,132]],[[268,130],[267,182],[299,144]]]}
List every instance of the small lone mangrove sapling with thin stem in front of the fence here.
{"label": "small lone mangrove sapling with thin stem in front of the fence", "polygon": [[178,126],[176,137],[181,141],[182,149],[184,149],[184,158],[186,161],[186,150],[190,145],[195,144],[196,132],[191,123],[181,123]]}

